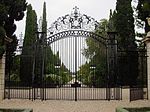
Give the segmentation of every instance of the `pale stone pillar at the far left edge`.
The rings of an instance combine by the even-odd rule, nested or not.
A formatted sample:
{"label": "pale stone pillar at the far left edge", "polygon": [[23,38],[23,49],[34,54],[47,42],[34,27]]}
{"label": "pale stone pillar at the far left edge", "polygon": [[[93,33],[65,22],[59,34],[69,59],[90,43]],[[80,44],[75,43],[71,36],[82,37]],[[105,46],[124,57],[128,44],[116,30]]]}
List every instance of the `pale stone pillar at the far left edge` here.
{"label": "pale stone pillar at the far left edge", "polygon": [[0,101],[4,99],[5,55],[0,59]]}

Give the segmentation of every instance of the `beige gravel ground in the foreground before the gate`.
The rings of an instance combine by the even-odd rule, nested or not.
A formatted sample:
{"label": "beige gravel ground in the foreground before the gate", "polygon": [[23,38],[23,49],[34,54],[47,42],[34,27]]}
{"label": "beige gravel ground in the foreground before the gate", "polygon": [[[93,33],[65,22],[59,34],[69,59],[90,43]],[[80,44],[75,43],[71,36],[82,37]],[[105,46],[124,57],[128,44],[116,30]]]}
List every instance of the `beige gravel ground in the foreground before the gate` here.
{"label": "beige gravel ground in the foreground before the gate", "polygon": [[31,108],[33,112],[115,112],[116,107],[150,107],[150,100],[140,101],[62,101],[3,100],[0,108]]}

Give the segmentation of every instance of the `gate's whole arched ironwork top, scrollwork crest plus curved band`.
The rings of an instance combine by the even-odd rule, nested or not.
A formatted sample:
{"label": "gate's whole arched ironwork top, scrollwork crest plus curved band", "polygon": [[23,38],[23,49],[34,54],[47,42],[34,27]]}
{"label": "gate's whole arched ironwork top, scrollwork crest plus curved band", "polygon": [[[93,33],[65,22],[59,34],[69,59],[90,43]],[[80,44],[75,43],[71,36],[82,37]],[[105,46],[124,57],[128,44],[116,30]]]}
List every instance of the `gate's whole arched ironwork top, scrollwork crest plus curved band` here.
{"label": "gate's whole arched ironwork top, scrollwork crest plus curved band", "polygon": [[91,37],[106,45],[106,38],[95,34],[100,24],[92,17],[79,12],[79,8],[74,7],[72,13],[59,17],[48,28],[48,45],[61,38],[66,37]]}

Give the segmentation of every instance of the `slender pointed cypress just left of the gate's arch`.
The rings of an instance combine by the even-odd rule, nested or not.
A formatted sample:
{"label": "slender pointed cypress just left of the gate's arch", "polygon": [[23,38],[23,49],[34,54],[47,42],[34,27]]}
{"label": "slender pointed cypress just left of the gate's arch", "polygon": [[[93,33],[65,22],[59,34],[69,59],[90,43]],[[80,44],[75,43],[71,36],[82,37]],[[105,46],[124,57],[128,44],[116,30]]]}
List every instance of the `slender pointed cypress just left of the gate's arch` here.
{"label": "slender pointed cypress just left of the gate's arch", "polygon": [[46,21],[46,2],[43,4],[43,17],[40,19],[38,24],[38,32],[37,32],[37,45],[36,45],[36,55],[35,55],[35,83],[39,85],[42,84],[42,78],[45,72],[45,45],[46,45],[46,33],[47,33],[47,21]]}

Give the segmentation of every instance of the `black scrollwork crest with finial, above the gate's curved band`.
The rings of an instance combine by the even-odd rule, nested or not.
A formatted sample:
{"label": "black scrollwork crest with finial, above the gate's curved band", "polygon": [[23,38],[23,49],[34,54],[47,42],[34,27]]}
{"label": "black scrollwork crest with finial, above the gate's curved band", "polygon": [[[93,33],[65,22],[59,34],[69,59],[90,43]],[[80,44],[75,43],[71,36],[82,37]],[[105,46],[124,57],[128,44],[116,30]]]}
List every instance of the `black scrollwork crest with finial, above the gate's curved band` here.
{"label": "black scrollwork crest with finial, above the gate's curved band", "polygon": [[72,13],[59,17],[48,29],[49,36],[68,30],[85,30],[93,32],[99,26],[94,18],[80,14],[79,8],[74,7]]}

